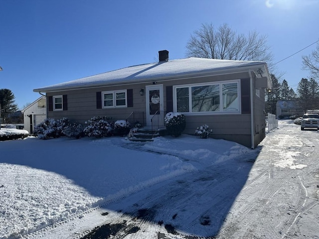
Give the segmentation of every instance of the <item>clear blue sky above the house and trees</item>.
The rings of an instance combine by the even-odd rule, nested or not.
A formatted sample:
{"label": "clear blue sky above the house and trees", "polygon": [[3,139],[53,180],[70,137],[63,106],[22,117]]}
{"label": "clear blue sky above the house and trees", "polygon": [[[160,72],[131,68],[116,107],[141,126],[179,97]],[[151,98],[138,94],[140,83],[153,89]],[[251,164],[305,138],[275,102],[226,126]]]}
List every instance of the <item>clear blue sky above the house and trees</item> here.
{"label": "clear blue sky above the house and trees", "polygon": [[[35,88],[155,62],[159,50],[185,58],[202,23],[266,34],[276,63],[319,40],[319,0],[0,0],[0,88],[22,109]],[[277,64],[294,90],[315,48]]]}

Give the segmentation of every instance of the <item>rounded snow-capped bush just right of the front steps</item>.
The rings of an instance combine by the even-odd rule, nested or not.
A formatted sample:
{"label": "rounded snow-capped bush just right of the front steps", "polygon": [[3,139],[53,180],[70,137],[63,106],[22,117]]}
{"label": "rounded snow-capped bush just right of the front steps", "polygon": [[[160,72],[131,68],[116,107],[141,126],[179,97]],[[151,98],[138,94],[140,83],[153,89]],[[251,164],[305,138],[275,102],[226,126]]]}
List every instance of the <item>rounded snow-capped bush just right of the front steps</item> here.
{"label": "rounded snow-capped bush just right of the front steps", "polygon": [[169,112],[164,118],[166,130],[168,135],[177,137],[181,135],[182,131],[186,127],[185,116],[181,113]]}

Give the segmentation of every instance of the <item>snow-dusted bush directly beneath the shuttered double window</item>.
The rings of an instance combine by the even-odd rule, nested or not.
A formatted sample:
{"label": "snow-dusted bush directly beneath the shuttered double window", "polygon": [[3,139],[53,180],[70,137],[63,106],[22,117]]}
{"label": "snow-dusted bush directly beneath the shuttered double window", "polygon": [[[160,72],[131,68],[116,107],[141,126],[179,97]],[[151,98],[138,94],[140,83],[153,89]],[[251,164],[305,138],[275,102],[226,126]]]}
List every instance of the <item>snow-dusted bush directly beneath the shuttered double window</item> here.
{"label": "snow-dusted bush directly beneath the shuttered double window", "polygon": [[111,122],[106,117],[93,117],[86,123],[83,132],[89,137],[101,138],[112,134]]}

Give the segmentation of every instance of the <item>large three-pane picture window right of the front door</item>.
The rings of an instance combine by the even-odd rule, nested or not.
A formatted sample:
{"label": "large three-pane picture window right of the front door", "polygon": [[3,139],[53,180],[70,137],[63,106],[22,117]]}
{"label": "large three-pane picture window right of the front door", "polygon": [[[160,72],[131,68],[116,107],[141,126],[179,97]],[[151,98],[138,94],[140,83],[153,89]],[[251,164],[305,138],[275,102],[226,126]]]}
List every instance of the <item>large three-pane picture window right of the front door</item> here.
{"label": "large three-pane picture window right of the front door", "polygon": [[239,113],[239,80],[174,87],[174,109],[181,113]]}

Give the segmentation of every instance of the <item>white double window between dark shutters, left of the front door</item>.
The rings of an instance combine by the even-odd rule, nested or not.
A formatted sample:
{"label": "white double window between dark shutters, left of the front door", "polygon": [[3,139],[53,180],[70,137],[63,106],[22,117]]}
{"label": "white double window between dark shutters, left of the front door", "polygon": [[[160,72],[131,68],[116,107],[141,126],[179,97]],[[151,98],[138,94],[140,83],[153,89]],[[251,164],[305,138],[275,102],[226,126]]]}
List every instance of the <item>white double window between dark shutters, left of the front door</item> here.
{"label": "white double window between dark shutters, left of the front door", "polygon": [[102,92],[103,108],[127,107],[126,91],[106,91]]}

